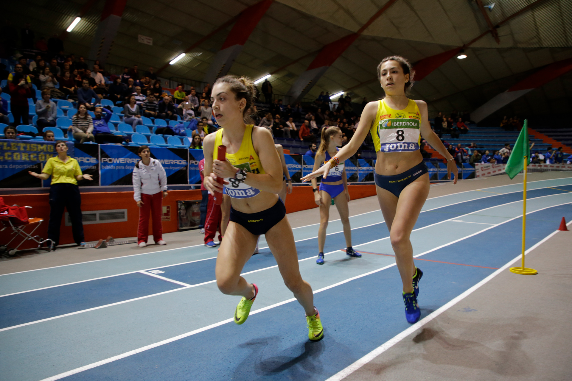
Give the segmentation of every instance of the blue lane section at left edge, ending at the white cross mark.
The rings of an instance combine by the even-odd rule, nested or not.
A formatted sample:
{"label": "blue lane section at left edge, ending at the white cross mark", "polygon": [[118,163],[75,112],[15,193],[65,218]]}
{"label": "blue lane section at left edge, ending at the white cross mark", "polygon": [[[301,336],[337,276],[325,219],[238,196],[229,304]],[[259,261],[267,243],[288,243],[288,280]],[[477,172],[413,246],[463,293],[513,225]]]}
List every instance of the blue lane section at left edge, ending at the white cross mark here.
{"label": "blue lane section at left edge, ending at the white cross mark", "polygon": [[183,286],[135,272],[3,296],[0,298],[0,328],[157,294],[157,292],[180,287]]}

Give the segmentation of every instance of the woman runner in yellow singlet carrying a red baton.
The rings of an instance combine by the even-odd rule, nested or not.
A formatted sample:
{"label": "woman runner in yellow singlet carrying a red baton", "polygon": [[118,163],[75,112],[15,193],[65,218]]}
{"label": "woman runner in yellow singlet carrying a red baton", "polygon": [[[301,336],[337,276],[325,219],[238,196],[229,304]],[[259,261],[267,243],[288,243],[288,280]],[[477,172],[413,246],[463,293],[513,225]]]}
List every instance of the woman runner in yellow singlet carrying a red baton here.
{"label": "woman runner in yellow singlet carrying a red baton", "polygon": [[[278,193],[283,189],[282,166],[269,131],[246,124],[245,115],[255,98],[256,89],[248,78],[233,75],[217,79],[212,90],[212,108],[223,127],[206,135],[204,185],[210,192],[231,197],[231,217],[219,249],[216,280],[227,295],[242,296],[235,311],[235,323],[243,324],[258,294],[256,284],[248,283],[240,273],[252,256],[256,240],[266,242],[278,264],[286,286],[304,307],[310,340],[324,335],[320,314],[313,305],[312,287],[302,279],[292,228]],[[217,147],[227,147],[226,160],[216,160]],[[217,183],[224,178],[224,187]]]}

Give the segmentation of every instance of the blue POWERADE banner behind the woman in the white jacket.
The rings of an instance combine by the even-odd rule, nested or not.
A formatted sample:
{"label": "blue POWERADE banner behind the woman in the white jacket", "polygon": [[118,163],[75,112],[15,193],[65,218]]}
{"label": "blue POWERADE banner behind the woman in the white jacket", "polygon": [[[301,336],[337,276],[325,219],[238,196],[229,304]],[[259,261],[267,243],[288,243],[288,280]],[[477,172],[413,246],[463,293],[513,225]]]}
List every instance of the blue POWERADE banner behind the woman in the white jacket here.
{"label": "blue POWERADE banner behind the woman in the white jacket", "polygon": [[[100,145],[101,186],[132,185],[133,167],[141,159],[139,147]],[[151,148],[151,157],[161,162],[167,184],[188,184],[188,150]]]}

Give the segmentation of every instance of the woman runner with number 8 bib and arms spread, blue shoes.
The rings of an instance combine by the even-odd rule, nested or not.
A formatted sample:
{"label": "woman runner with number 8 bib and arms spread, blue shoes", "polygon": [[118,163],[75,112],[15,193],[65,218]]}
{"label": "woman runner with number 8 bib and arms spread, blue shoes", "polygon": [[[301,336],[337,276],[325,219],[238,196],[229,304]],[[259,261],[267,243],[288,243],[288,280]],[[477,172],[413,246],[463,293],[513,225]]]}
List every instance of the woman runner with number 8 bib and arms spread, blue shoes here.
{"label": "woman runner with number 8 bib and arms spread, blue shoes", "polygon": [[456,183],[458,174],[451,154],[431,130],[427,103],[407,99],[406,91],[411,89],[414,74],[407,59],[398,55],[384,58],[378,66],[378,78],[386,96],[364,107],[358,129],[336,157],[302,178],[305,182],[323,175],[324,181],[329,181],[331,167],[352,157],[371,132],[377,153],[374,174],[376,191],[390,231],[409,323],[415,323],[420,318],[417,296],[419,280],[423,275],[413,262],[410,235],[429,194],[427,166],[419,152],[421,135],[447,159],[448,178],[451,178],[452,171]]}

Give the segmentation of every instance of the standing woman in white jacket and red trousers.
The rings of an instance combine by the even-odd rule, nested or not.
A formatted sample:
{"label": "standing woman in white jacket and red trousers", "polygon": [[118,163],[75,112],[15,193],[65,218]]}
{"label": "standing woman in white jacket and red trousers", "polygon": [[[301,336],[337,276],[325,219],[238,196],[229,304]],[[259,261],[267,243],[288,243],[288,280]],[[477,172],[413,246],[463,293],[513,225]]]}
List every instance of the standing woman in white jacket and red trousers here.
{"label": "standing woman in white jacket and red trousers", "polygon": [[151,212],[153,240],[157,244],[167,244],[162,238],[161,226],[162,199],[167,196],[167,174],[161,162],[151,158],[148,146],[139,147],[137,154],[141,157],[133,169],[133,198],[139,207],[137,243],[139,247],[147,246]]}

